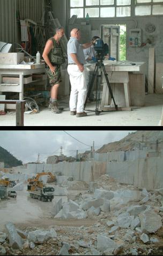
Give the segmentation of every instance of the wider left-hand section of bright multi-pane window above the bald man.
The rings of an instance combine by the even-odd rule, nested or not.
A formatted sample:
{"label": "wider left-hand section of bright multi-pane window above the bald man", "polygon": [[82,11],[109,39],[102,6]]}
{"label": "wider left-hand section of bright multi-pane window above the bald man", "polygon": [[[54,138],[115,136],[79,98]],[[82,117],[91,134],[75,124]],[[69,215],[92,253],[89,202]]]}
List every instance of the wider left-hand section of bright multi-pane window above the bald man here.
{"label": "wider left-hand section of bright multi-pane window above the bald man", "polygon": [[131,0],[70,0],[70,17],[101,18],[131,16]]}

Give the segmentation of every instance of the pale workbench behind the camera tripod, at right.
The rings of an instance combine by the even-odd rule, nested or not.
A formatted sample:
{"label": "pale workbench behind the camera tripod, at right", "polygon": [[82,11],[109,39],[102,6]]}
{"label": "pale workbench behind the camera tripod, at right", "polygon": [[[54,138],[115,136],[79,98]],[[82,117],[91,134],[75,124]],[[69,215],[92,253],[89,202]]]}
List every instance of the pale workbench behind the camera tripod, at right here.
{"label": "pale workbench behind the camera tripod, at right", "polygon": [[[145,63],[105,60],[103,64],[108,74],[116,105],[122,107],[123,110],[131,110],[132,106],[144,106]],[[88,71],[94,71],[95,64],[86,64],[86,68]],[[102,74],[102,84],[101,111],[114,107],[104,74]]]}

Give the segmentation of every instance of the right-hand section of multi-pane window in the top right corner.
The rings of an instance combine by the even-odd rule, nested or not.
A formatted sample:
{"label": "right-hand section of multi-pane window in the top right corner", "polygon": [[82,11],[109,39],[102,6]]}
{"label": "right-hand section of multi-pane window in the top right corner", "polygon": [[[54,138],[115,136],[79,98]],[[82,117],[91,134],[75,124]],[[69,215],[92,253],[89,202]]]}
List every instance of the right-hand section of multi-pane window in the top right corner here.
{"label": "right-hand section of multi-pane window in the top right corner", "polygon": [[162,0],[136,0],[136,16],[163,15]]}

